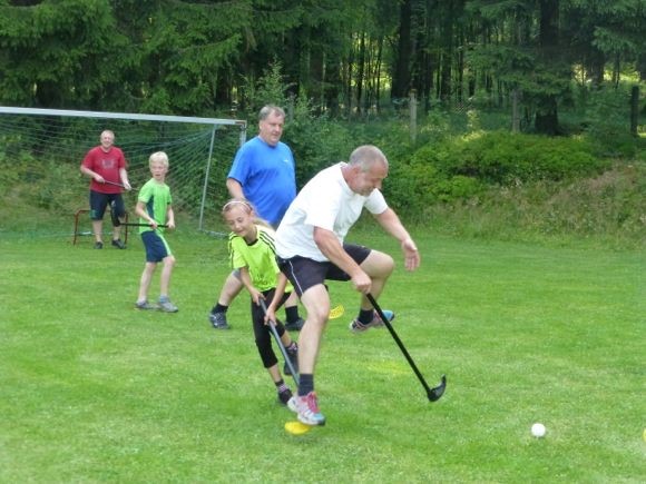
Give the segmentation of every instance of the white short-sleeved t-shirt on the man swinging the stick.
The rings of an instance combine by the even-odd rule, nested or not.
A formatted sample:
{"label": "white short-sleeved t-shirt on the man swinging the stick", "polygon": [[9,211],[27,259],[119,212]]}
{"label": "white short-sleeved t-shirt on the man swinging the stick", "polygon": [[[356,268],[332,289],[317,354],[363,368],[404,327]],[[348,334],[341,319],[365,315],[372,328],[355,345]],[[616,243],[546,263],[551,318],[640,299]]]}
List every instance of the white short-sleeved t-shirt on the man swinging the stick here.
{"label": "white short-sleeved t-shirt on the man swinging the stick", "polygon": [[331,230],[343,244],[350,228],[365,207],[371,214],[383,214],[388,204],[378,189],[364,197],[350,189],[341,168],[344,162],[320,171],[298,192],[276,230],[276,255],[325,261],[314,243],[314,227]]}

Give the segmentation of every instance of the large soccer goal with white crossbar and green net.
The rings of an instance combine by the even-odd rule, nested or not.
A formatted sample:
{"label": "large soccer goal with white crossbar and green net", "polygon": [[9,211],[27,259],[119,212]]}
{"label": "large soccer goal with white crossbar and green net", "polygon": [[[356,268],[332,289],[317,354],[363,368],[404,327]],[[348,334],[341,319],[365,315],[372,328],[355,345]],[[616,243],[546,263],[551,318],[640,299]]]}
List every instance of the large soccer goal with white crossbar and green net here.
{"label": "large soccer goal with white crossbar and green net", "polygon": [[[226,174],[237,148],[246,140],[246,121],[0,107],[3,161],[31,166],[35,177],[47,172],[62,178],[49,200],[40,200],[47,195],[35,190],[36,201],[41,204],[55,204],[55,197],[69,190],[67,198],[82,204],[77,208],[87,205],[89,180],[78,167],[86,152],[99,145],[99,136],[106,129],[115,132],[115,146],[124,150],[128,160],[133,191],[150,178],[148,157],[166,151],[170,160],[167,182],[176,213],[199,230],[219,226],[219,207],[228,197]],[[134,197],[127,195],[129,211]],[[53,208],[62,211],[61,207]]]}

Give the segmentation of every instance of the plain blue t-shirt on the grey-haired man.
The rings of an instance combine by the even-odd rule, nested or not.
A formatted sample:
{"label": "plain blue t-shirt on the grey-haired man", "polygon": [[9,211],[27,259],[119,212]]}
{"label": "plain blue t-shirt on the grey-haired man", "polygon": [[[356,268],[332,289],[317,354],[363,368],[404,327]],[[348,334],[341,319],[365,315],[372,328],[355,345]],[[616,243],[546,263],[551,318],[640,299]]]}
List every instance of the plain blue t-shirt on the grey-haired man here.
{"label": "plain blue t-shirt on the grey-haired man", "polygon": [[257,215],[276,226],[296,197],[294,156],[284,142],[267,145],[260,136],[237,151],[228,178],[237,180]]}

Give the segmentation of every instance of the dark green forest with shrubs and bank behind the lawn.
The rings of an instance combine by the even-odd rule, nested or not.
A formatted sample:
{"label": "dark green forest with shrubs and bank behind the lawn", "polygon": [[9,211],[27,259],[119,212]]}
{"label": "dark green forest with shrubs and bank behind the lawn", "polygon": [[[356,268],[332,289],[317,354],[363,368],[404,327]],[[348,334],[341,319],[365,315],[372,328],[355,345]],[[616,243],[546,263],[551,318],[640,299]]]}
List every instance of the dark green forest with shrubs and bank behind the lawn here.
{"label": "dark green forest with shrubs and bank behind the lawn", "polygon": [[[0,0],[0,105],[253,135],[275,102],[298,185],[373,142],[411,221],[635,245],[645,31],[644,0]],[[1,147],[0,164],[3,185],[25,181]]]}

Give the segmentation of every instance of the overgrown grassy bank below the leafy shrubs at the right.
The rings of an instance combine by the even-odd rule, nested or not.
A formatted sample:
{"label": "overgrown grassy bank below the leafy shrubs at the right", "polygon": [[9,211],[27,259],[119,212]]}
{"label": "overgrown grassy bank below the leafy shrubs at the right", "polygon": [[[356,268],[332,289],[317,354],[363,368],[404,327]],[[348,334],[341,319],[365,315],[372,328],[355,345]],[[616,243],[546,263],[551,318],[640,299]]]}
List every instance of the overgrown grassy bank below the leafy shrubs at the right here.
{"label": "overgrown grassy bank below the leafy shrubs at the right", "polygon": [[616,164],[600,175],[567,181],[491,186],[478,197],[427,207],[422,223],[460,237],[604,241],[643,247],[646,165]]}

